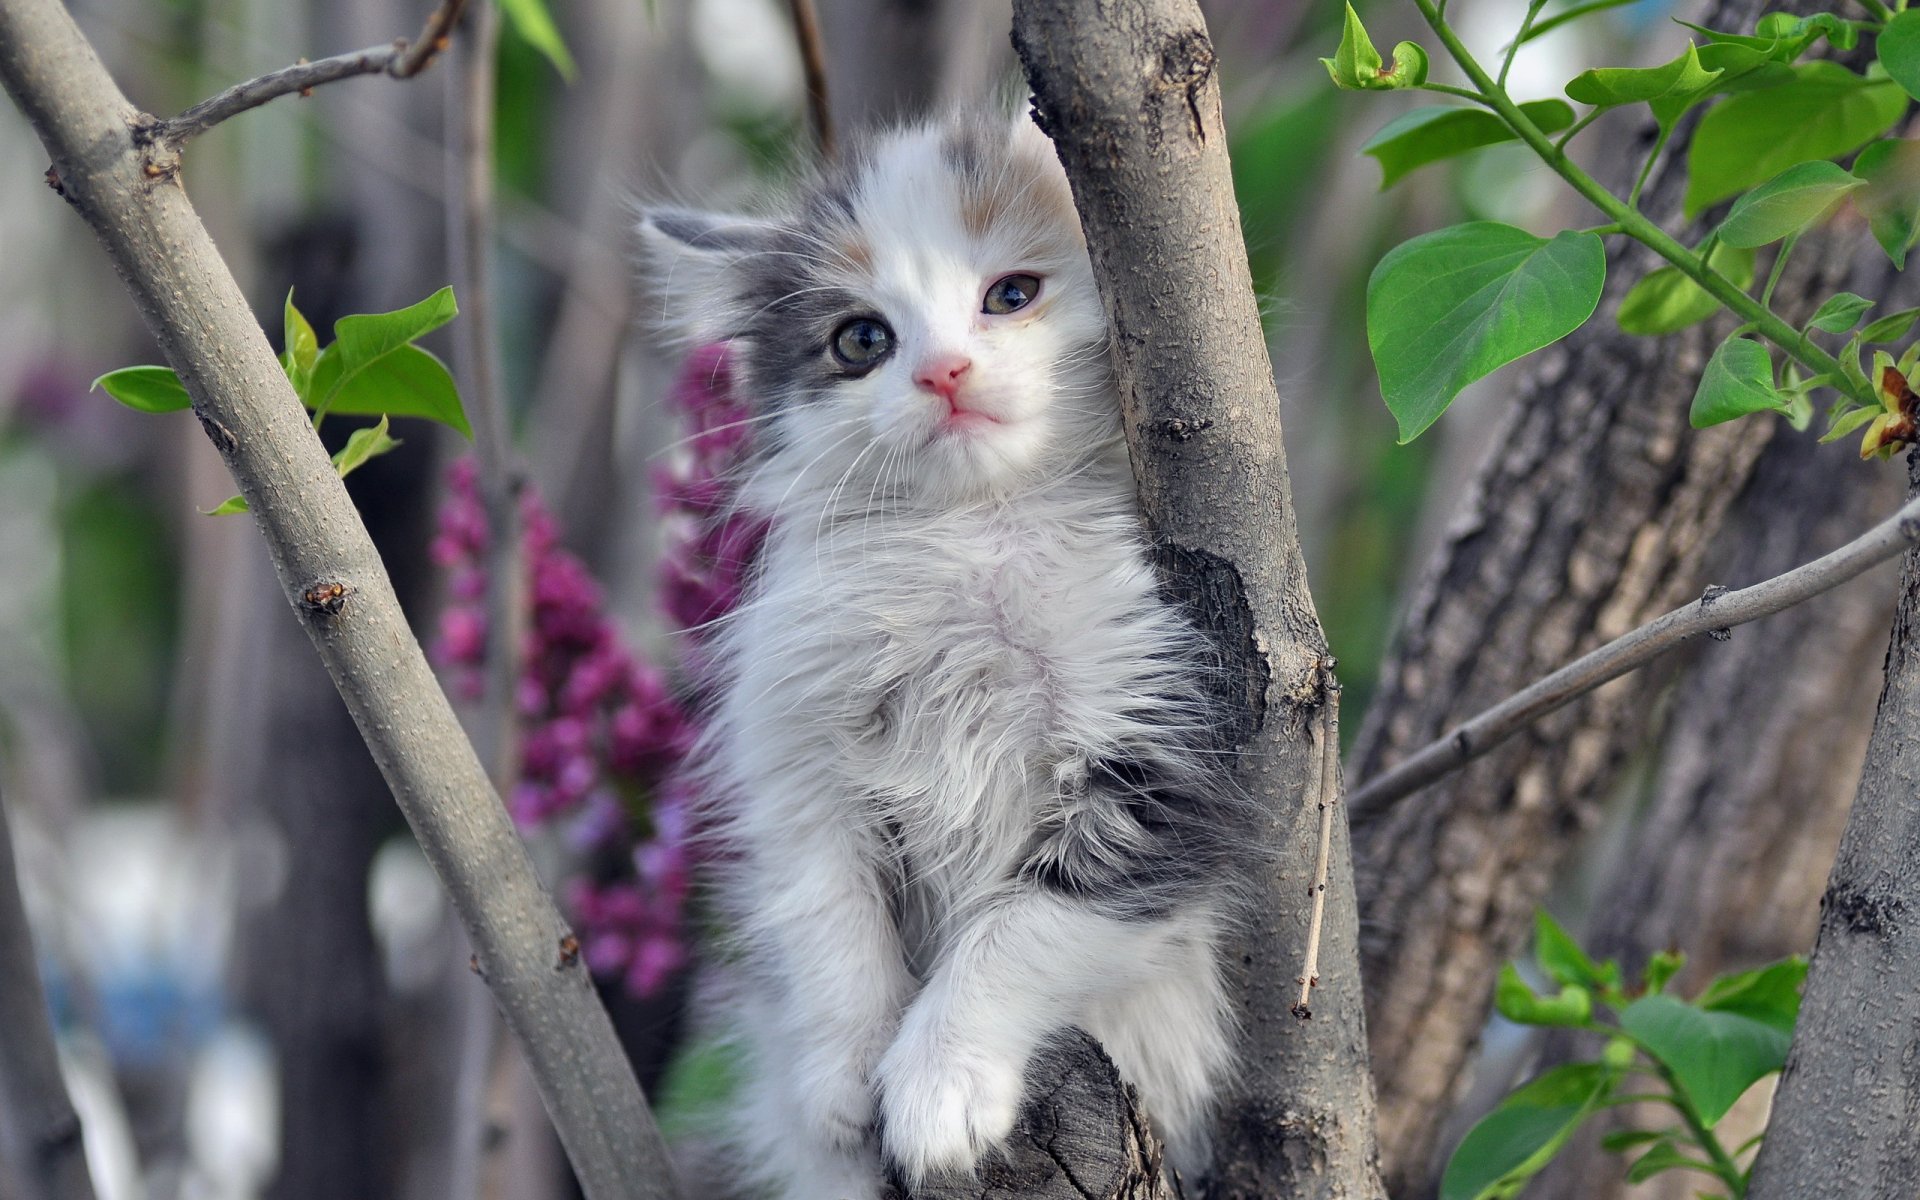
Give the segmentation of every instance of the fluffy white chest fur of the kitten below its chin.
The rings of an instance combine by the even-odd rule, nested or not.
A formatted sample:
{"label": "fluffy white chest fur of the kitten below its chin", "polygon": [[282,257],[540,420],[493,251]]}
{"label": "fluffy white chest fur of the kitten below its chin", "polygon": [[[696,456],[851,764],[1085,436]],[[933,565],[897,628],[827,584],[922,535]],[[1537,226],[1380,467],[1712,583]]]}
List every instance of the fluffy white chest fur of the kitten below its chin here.
{"label": "fluffy white chest fur of the kitten below its chin", "polygon": [[[837,820],[887,831],[935,908],[1006,881],[1087,764],[1150,735],[1181,632],[1131,486],[776,528],[741,641],[762,751],[828,774]],[[760,678],[753,678],[760,676]]]}

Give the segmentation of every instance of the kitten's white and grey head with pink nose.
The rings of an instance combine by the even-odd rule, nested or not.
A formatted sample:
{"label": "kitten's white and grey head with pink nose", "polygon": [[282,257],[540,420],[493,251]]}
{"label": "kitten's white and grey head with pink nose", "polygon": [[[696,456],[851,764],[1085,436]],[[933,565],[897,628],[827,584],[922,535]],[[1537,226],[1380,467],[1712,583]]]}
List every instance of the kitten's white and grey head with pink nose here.
{"label": "kitten's white and grey head with pink nose", "polygon": [[1106,321],[1031,121],[887,134],[770,217],[653,211],[668,309],[732,338],[762,444],[849,492],[1004,492],[1112,444]]}

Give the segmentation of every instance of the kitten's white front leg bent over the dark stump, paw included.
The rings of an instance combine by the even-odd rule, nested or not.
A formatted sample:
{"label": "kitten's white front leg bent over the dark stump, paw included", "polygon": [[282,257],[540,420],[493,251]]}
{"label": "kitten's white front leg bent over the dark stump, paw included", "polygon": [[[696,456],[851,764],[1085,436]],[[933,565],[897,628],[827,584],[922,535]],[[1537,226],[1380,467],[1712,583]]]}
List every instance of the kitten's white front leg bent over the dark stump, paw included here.
{"label": "kitten's white front leg bent over the dark stump, paw included", "polygon": [[1167,927],[1021,887],[956,939],[879,1062],[881,1144],[918,1185],[1006,1140],[1027,1060],[1156,970]]}

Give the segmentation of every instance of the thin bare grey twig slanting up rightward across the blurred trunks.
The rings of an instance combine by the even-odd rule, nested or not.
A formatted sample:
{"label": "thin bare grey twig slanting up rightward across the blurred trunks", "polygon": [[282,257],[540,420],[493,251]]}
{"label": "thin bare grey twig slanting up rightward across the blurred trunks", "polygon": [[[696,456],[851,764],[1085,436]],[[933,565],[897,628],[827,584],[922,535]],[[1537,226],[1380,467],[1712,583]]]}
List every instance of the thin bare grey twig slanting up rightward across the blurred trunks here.
{"label": "thin bare grey twig slanting up rightward across the blurred trunks", "polygon": [[1398,766],[1367,780],[1348,795],[1354,820],[1371,820],[1434,780],[1459,770],[1532,722],[1594,691],[1601,684],[1645,666],[1659,655],[1701,634],[1726,630],[1772,616],[1782,609],[1839,588],[1853,576],[1885,563],[1920,541],[1920,501],[1908,501],[1893,516],[1834,553],[1793,570],[1726,591],[1709,588],[1697,601],[1657,616],[1638,630],[1615,637],[1597,651],[1569,662],[1548,678],[1500,701],[1486,712],[1455,726]]}

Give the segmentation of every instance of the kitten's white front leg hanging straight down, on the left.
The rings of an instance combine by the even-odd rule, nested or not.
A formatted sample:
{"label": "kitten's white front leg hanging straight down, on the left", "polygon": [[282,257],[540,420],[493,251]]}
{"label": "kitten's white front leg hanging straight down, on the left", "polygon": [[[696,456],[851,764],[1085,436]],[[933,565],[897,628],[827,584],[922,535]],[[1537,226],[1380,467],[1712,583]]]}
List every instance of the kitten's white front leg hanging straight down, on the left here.
{"label": "kitten's white front leg hanging straight down, on the left", "polygon": [[[787,808],[791,812],[791,808]],[[874,1068],[912,979],[879,877],[879,847],[831,816],[756,839],[747,939],[778,996],[787,1089],[826,1142],[874,1125]]]}

